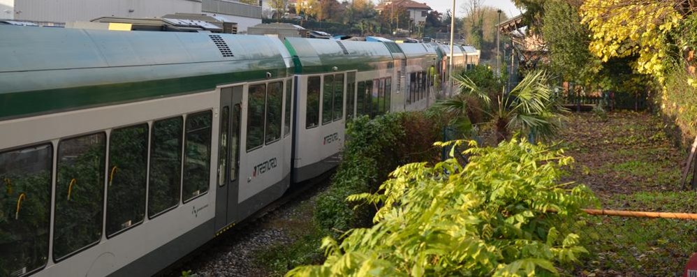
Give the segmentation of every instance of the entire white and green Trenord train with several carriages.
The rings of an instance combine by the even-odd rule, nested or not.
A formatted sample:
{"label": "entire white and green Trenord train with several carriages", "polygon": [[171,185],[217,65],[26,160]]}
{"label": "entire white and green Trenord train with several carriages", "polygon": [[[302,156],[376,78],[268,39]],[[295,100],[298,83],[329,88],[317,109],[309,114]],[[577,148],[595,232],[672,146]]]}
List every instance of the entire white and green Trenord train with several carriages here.
{"label": "entire white and green Trenord train with several carriages", "polygon": [[[151,276],[423,110],[443,45],[0,26],[0,276]],[[452,57],[467,66],[464,48]]]}

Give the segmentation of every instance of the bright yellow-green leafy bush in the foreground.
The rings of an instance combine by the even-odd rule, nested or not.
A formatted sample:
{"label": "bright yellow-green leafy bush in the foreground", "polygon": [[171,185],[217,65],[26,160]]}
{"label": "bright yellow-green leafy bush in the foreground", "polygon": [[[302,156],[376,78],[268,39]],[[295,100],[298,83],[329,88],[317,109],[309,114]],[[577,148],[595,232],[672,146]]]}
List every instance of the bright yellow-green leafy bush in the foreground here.
{"label": "bright yellow-green leafy bush in the foreground", "polygon": [[580,208],[595,198],[559,184],[573,159],[515,139],[470,146],[466,166],[404,165],[383,193],[349,197],[381,204],[376,224],[323,239],[326,262],[287,276],[545,276],[578,261]]}

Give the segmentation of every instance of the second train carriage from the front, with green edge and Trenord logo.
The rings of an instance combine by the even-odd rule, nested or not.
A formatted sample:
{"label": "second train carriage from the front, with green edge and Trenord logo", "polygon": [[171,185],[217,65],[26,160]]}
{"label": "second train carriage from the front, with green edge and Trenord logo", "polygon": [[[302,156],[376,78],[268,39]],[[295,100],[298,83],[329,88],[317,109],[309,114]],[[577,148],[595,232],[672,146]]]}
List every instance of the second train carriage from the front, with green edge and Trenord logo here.
{"label": "second train carriage from the front, with green edge and Trenord logo", "polygon": [[295,63],[297,183],[338,165],[347,118],[390,110],[394,59],[380,42],[286,38],[285,44]]}

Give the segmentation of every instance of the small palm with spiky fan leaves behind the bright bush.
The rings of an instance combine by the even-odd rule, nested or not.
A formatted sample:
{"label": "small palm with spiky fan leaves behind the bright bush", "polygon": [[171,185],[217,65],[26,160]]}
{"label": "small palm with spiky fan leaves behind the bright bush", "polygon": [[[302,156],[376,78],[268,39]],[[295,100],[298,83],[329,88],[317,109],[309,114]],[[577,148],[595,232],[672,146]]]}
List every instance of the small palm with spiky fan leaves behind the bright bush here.
{"label": "small palm with spiky fan leaves behind the bright bush", "polygon": [[[497,144],[508,140],[513,133],[526,135],[531,141],[547,140],[559,132],[566,110],[550,87],[550,76],[544,71],[529,73],[506,93],[496,93],[496,99],[483,91],[467,75],[453,75],[460,94],[440,101],[436,106],[455,115],[452,122],[462,133],[470,133],[476,124],[490,124]],[[471,105],[474,99],[478,105]],[[473,124],[468,116],[471,110],[480,110],[488,121]]]}

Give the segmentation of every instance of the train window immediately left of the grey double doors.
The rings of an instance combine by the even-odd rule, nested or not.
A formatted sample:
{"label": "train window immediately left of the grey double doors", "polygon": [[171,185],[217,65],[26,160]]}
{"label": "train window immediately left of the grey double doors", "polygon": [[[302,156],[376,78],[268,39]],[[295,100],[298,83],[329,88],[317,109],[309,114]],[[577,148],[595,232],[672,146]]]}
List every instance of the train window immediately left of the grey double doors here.
{"label": "train window immediately left of the grey double doors", "polygon": [[186,117],[184,139],[184,202],[208,191],[210,181],[211,112]]}

